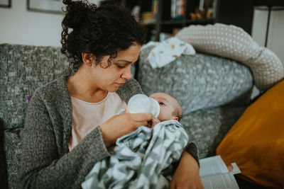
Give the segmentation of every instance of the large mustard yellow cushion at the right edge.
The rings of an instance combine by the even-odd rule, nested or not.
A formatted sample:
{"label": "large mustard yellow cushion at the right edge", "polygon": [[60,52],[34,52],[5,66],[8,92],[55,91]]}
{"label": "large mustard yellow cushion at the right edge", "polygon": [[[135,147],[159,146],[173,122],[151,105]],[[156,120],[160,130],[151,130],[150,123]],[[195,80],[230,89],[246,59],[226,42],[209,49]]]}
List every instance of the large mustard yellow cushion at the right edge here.
{"label": "large mustard yellow cushion at the right edge", "polygon": [[246,109],[217,148],[241,178],[266,187],[284,183],[284,81]]}

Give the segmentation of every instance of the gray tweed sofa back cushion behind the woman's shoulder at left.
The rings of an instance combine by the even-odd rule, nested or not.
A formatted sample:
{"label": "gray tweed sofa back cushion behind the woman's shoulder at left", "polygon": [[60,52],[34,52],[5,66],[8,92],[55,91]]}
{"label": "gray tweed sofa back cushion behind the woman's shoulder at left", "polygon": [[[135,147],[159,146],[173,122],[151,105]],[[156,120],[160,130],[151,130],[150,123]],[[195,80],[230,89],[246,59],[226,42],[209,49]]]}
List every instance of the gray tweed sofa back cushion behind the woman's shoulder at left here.
{"label": "gray tweed sofa back cushion behind the woman's shoulder at left", "polygon": [[28,96],[67,69],[59,47],[0,45],[0,118],[4,128],[23,127]]}

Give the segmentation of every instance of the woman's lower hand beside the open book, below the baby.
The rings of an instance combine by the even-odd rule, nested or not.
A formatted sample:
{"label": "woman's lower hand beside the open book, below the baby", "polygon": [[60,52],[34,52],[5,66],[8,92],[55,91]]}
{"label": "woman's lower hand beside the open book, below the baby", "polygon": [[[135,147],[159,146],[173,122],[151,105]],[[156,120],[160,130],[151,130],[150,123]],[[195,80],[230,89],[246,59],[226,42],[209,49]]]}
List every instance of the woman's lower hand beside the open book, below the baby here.
{"label": "woman's lower hand beside the open book, below the baby", "polygon": [[197,161],[187,151],[182,153],[178,168],[170,181],[170,189],[173,188],[204,188]]}

